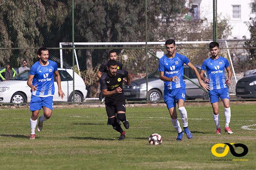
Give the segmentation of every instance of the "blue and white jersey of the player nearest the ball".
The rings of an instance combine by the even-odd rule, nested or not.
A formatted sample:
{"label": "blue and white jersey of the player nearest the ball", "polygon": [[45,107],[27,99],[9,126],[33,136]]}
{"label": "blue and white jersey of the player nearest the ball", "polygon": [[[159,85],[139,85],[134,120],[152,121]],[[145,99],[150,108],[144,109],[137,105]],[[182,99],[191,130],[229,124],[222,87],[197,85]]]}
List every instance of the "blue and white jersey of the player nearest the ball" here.
{"label": "blue and white jersey of the player nearest the ball", "polygon": [[173,78],[174,76],[177,76],[180,79],[177,82],[164,81],[164,89],[186,87],[186,84],[183,81],[183,63],[188,64],[189,59],[179,53],[176,53],[173,58],[168,58],[164,55],[159,59],[158,71],[164,72],[165,77]]}

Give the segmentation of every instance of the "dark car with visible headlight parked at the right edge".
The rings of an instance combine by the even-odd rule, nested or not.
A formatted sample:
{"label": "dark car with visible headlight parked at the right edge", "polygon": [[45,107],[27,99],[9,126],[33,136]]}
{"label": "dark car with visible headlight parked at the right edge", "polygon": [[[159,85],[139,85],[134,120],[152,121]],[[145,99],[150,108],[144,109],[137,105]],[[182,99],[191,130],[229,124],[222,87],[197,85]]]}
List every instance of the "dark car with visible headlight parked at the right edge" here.
{"label": "dark car with visible headlight parked at the right edge", "polygon": [[256,98],[256,72],[237,81],[236,96],[241,98]]}

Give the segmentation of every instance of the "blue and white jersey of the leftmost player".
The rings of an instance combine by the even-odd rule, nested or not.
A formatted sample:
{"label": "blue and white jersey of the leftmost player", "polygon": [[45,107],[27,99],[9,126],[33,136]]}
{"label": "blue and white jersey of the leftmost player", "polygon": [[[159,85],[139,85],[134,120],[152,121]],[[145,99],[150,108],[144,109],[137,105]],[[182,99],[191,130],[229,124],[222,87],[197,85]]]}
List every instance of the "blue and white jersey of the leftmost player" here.
{"label": "blue and white jersey of the leftmost player", "polygon": [[58,70],[56,62],[48,60],[47,66],[42,66],[39,61],[32,65],[29,75],[35,75],[32,84],[37,85],[37,90],[32,91],[32,95],[39,97],[53,96],[54,94],[54,80],[53,72]]}

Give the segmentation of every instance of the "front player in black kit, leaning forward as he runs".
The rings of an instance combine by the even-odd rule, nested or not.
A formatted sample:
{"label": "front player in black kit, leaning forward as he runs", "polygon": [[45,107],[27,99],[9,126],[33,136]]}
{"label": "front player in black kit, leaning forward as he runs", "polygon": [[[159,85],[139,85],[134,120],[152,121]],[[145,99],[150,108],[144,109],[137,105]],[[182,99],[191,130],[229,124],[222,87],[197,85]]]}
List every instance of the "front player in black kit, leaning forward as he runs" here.
{"label": "front player in black kit, leaning forward as he runs", "polygon": [[[124,123],[125,129],[129,129],[129,122],[125,116],[125,98],[123,92],[123,82],[125,85],[131,84],[131,77],[126,70],[117,70],[117,62],[115,60],[108,61],[108,72],[104,72],[100,77],[100,85],[102,93],[105,96],[105,106],[113,129],[120,132],[120,138],[123,140],[126,133],[116,121],[116,116]],[[127,81],[123,81],[126,78]]]}

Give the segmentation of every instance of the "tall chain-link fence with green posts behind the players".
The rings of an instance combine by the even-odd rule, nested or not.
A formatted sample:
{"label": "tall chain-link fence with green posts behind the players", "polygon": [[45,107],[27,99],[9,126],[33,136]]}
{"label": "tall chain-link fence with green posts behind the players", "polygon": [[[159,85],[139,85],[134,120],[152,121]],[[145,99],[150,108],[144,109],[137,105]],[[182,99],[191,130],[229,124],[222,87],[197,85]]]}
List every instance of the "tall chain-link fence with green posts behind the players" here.
{"label": "tall chain-link fence with green posts behind the players", "polygon": [[[36,50],[43,46],[49,49],[49,59],[55,61],[60,68],[61,86],[65,98],[61,100],[58,92],[55,92],[55,102],[73,101],[73,79],[75,79],[75,102],[103,101],[104,97],[101,95],[100,82],[96,74],[101,64],[109,60],[108,52],[112,49],[116,50],[117,61],[123,63],[123,69],[131,74],[131,85],[124,85],[126,99],[146,100],[146,76],[148,76],[148,100],[163,100],[164,84],[159,78],[157,68],[158,59],[166,53],[166,50],[163,43],[149,42],[164,42],[173,38],[177,45],[176,52],[186,55],[200,72],[203,61],[210,57],[209,41],[213,32],[211,20],[195,15],[195,11],[191,10],[192,7],[194,8],[193,4],[186,5],[186,1],[166,2],[74,1],[73,22],[72,1],[1,1],[0,70],[5,69],[5,71],[1,73],[3,78],[0,82],[0,102],[30,101],[31,92],[27,86],[28,70],[21,73],[19,67],[24,66],[23,60],[26,60],[26,66],[30,68],[38,60]],[[224,41],[231,32],[228,20],[219,20],[218,23],[220,56],[232,63],[230,66],[233,76],[229,92],[236,94],[236,82],[249,72],[253,73],[250,70],[255,69],[253,63],[256,63],[256,57],[251,55],[255,48],[248,48],[246,46],[248,40],[245,39]],[[92,44],[84,45],[84,42]],[[97,42],[108,42],[108,44],[99,45]],[[116,44],[117,42],[126,43]],[[8,72],[7,62],[15,71],[11,69]],[[13,77],[14,73],[16,77],[4,81],[6,74]],[[198,86],[198,80],[187,66],[184,67],[184,75],[188,100],[209,99],[207,92]],[[246,81],[251,83],[254,79]],[[255,92],[254,86],[251,85],[252,89],[248,90],[247,87],[240,85],[239,93]],[[246,96],[242,97],[246,98]]]}

